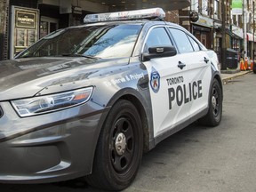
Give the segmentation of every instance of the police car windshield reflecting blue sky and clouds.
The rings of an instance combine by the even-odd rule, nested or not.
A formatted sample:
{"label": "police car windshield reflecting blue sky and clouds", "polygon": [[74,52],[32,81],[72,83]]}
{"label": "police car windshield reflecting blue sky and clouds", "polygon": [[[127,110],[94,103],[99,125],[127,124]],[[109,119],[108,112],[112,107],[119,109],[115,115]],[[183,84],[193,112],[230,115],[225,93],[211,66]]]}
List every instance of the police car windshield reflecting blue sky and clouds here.
{"label": "police car windshield reflecting blue sky and clouds", "polygon": [[45,36],[17,58],[84,56],[95,58],[130,57],[140,25],[107,25],[66,28]]}

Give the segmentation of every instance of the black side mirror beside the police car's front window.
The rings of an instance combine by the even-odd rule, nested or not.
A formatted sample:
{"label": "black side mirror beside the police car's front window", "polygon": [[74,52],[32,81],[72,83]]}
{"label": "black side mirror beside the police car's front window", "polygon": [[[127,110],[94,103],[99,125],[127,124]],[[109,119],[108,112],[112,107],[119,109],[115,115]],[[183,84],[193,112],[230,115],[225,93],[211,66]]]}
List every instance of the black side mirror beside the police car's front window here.
{"label": "black side mirror beside the police car's front window", "polygon": [[149,47],[147,53],[142,53],[142,61],[148,61],[155,58],[172,57],[177,54],[174,46]]}

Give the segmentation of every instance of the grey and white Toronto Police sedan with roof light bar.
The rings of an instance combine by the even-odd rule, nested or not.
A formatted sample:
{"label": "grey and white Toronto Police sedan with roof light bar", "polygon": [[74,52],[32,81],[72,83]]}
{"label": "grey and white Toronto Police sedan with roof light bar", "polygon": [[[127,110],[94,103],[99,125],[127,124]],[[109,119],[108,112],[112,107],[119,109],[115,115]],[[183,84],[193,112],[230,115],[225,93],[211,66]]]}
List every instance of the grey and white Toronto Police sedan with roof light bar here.
{"label": "grey and white Toronto Police sedan with roof light bar", "polygon": [[216,126],[215,52],[160,8],[87,15],[0,63],[0,182],[127,188],[143,152]]}

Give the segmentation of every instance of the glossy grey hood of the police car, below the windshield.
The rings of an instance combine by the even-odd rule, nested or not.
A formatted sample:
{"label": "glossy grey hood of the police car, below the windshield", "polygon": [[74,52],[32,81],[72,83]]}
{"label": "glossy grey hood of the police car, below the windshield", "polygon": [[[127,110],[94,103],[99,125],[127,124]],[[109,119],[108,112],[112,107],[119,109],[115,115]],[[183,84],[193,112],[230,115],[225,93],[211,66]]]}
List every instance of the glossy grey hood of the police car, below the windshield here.
{"label": "glossy grey hood of the police car, below the windshield", "polygon": [[[122,63],[128,63],[123,59]],[[26,58],[0,62],[0,100],[15,100],[39,94],[63,92],[92,85],[90,78],[100,68],[120,60],[87,58]],[[91,84],[90,84],[91,83]]]}

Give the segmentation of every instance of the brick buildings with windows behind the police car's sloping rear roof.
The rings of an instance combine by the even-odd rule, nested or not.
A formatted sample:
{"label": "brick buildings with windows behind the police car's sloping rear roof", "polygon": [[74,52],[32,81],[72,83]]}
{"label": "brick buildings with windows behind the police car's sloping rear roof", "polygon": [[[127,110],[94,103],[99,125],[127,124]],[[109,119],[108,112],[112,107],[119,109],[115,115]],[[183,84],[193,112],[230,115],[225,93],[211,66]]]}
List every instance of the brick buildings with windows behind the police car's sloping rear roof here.
{"label": "brick buildings with windows behind the police car's sloping rear roof", "polygon": [[[190,19],[191,12],[198,14],[198,20]],[[240,44],[243,38],[233,33],[231,19],[230,0],[192,0],[188,8],[180,10],[180,25],[188,28],[206,48],[217,52],[220,62],[224,62],[221,68],[226,68],[223,54],[228,48],[234,48],[231,42]]]}

